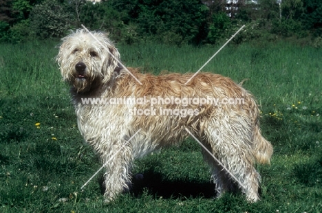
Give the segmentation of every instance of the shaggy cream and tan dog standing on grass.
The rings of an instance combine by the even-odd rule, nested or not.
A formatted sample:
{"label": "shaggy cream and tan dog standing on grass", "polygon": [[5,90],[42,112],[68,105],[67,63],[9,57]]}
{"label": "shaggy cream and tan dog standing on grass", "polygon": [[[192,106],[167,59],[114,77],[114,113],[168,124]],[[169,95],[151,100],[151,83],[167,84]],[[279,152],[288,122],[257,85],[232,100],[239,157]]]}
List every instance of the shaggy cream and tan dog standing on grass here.
{"label": "shaggy cream and tan dog standing on grass", "polygon": [[63,38],[56,60],[71,85],[78,128],[105,164],[107,200],[129,190],[134,159],[180,144],[189,132],[208,149],[202,154],[218,196],[238,186],[248,201],[259,200],[254,165],[270,164],[272,145],[261,136],[259,109],[248,91],[217,74],[191,79],[121,68],[107,34],[92,34],[76,30]]}

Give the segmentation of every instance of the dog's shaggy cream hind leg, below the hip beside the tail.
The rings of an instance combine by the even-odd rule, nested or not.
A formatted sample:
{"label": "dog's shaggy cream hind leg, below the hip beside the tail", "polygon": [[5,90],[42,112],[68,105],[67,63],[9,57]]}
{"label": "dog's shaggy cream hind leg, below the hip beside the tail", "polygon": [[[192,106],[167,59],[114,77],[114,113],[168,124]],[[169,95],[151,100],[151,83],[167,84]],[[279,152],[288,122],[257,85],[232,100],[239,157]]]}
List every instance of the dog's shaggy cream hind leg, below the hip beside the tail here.
{"label": "dog's shaggy cream hind leg, below the hip beside the tail", "polygon": [[[229,117],[220,120],[221,124],[218,123],[219,120],[213,120],[206,126],[205,134],[213,155],[235,177],[234,179],[237,179],[236,182],[241,191],[246,194],[246,199],[255,202],[259,200],[260,176],[253,166],[255,159],[252,148],[252,128],[247,125],[248,122],[242,122],[242,120],[243,117]],[[213,167],[217,168],[213,173],[217,178],[217,190],[229,189],[226,171],[216,164],[213,164]]]}

